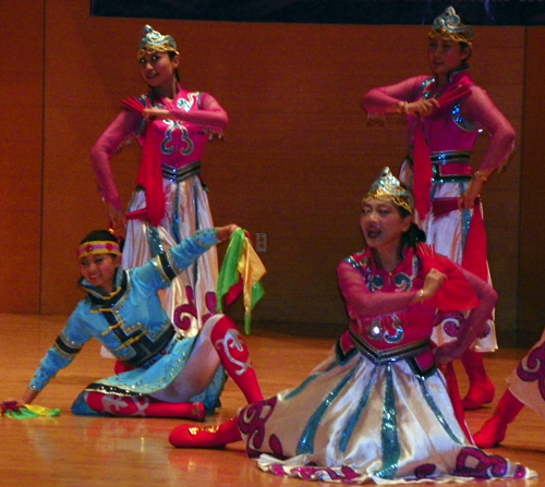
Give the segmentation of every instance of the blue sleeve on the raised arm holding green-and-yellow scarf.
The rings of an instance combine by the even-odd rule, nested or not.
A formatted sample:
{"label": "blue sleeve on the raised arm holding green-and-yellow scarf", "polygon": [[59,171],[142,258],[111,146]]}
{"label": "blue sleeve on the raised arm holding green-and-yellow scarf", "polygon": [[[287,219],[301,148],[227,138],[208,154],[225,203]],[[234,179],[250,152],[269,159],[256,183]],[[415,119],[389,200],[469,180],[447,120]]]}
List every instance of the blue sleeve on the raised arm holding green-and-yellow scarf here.
{"label": "blue sleeve on the raised arm holding green-and-yellow scarf", "polygon": [[199,230],[142,267],[131,269],[131,277],[154,291],[168,288],[178,275],[217,243],[216,230]]}

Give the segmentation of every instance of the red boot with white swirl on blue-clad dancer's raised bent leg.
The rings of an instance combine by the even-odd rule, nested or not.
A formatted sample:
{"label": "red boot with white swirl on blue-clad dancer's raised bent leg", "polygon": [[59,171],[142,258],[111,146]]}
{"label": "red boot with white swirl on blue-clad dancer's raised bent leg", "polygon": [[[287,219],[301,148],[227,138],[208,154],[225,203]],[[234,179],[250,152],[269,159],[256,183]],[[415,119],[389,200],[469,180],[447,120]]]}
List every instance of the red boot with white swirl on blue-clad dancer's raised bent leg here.
{"label": "red boot with white swirl on blue-clad dancer's raised bent leg", "polygon": [[250,353],[231,318],[223,316],[214,325],[210,340],[221,365],[239,386],[249,404],[262,401],[263,394],[250,362]]}

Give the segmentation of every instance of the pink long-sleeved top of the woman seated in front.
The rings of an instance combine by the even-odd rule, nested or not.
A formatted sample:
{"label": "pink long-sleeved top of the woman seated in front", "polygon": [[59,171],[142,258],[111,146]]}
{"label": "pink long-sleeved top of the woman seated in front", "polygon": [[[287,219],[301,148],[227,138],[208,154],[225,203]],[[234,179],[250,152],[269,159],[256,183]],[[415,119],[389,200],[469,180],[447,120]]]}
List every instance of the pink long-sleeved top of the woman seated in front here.
{"label": "pink long-sleeved top of the woman seated in front", "polygon": [[[452,267],[460,270],[479,299],[477,307],[458,330],[463,350],[481,331],[496,304],[497,294],[487,283],[446,257],[437,255],[435,260],[437,264],[432,267],[447,273]],[[374,361],[412,354],[420,356],[424,368],[433,365],[429,341],[437,309],[432,303],[414,303],[425,276],[411,248],[405,251],[403,261],[392,272],[377,265],[371,249],[342,260],[337,272],[350,317],[349,330],[339,340],[344,354],[355,346]]]}

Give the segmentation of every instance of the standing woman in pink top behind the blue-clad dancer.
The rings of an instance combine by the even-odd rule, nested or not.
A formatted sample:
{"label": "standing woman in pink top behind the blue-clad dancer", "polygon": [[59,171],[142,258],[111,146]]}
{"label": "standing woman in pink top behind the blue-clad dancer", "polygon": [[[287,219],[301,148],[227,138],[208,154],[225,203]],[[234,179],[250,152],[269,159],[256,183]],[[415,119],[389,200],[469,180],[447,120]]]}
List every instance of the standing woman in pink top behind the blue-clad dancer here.
{"label": "standing woman in pink top behind the blue-clad dancer", "polygon": [[[180,57],[171,36],[146,25],[137,61],[149,90],[123,100],[123,109],[90,153],[112,224],[126,224],[124,268],[143,265],[195,231],[214,227],[201,160],[207,142],[228,124],[226,111],[213,96],[180,86]],[[142,162],[125,212],[110,159],[131,137],[142,145]],[[217,254],[211,249],[162,295],[167,313],[184,337],[196,336],[216,312],[217,275]]]}

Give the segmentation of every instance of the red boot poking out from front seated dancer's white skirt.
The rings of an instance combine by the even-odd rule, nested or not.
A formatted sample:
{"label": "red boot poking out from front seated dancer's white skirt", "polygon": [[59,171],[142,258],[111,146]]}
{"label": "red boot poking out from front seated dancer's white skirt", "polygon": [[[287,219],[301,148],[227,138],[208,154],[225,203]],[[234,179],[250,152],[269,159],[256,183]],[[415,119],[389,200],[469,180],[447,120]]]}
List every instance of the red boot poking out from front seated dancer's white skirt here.
{"label": "red boot poking out from front seated dancer's white skirt", "polygon": [[223,448],[241,439],[237,418],[218,426],[180,425],[169,436],[170,445],[175,448]]}

